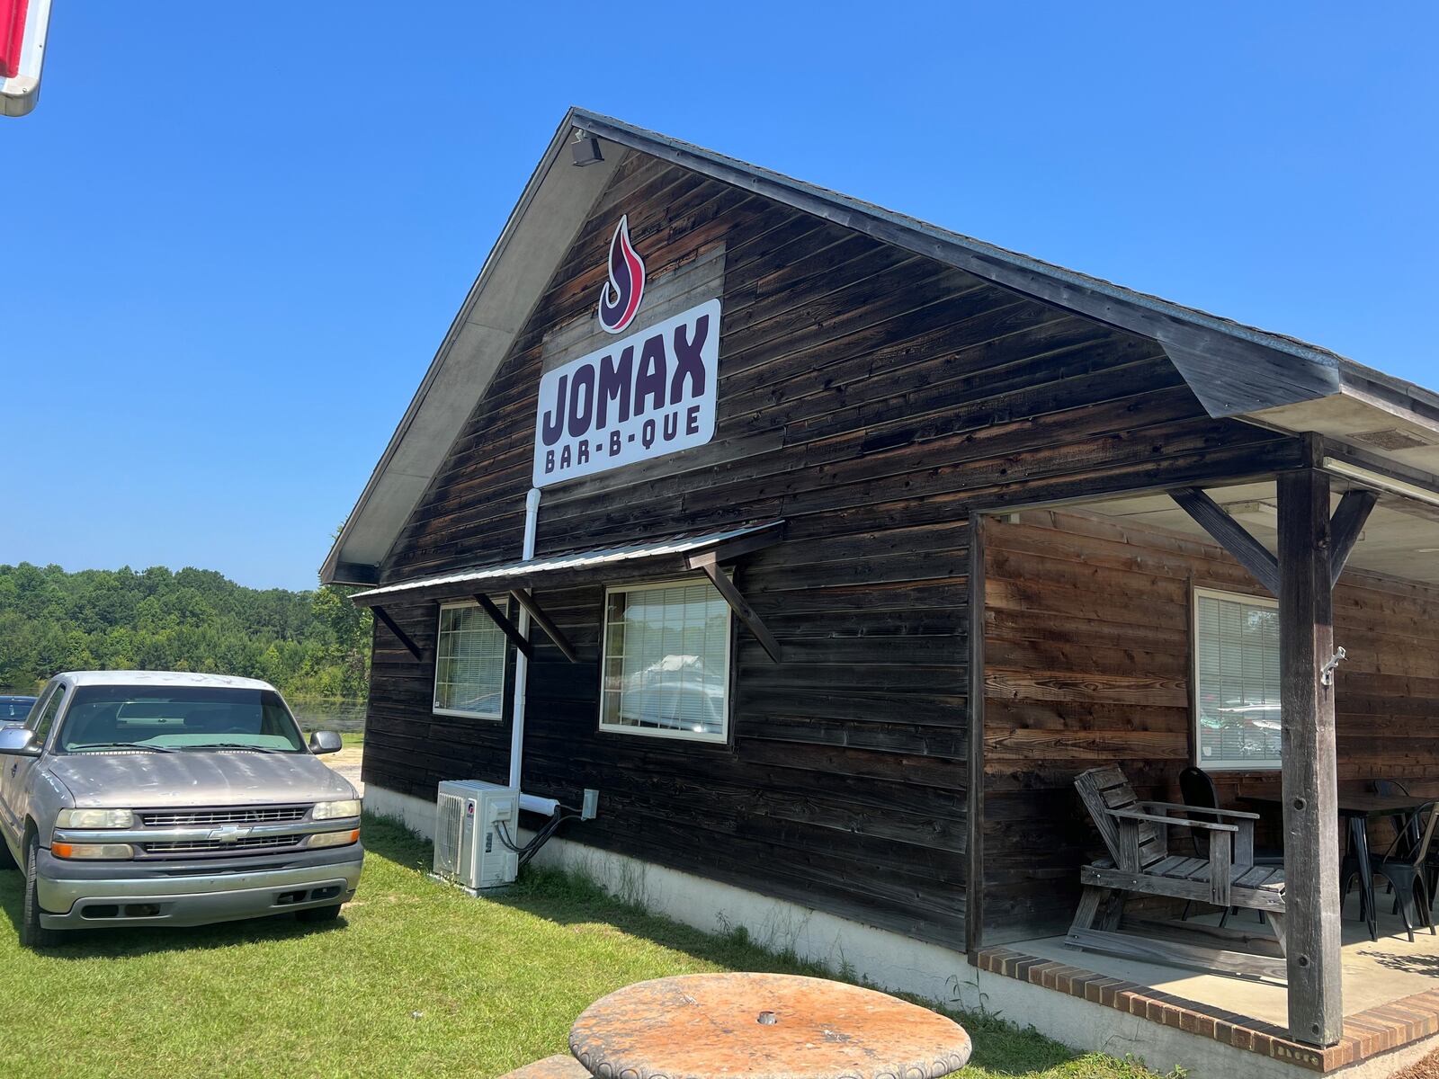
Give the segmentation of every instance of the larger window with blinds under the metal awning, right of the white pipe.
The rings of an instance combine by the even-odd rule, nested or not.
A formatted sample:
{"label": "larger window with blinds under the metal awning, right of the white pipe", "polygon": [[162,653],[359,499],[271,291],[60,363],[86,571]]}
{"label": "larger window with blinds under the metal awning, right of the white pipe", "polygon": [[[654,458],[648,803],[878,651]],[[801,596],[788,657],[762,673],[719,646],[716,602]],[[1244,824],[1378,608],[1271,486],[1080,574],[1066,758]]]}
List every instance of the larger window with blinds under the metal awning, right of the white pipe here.
{"label": "larger window with blinds under the metal awning, right of the white pipe", "polygon": [[604,594],[600,729],[721,742],[730,716],[730,606],[709,581]]}

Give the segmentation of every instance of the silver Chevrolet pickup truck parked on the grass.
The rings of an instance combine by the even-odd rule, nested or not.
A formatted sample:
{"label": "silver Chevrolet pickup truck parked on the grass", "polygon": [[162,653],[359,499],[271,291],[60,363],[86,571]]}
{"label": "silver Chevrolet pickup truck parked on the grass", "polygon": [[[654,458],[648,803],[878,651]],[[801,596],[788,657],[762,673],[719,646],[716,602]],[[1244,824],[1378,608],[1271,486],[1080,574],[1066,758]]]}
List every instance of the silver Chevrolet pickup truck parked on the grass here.
{"label": "silver Chevrolet pickup truck parked on the grass", "polygon": [[59,929],[334,918],[360,883],[360,798],[266,682],[56,675],[0,729],[0,863],[24,872],[22,941]]}

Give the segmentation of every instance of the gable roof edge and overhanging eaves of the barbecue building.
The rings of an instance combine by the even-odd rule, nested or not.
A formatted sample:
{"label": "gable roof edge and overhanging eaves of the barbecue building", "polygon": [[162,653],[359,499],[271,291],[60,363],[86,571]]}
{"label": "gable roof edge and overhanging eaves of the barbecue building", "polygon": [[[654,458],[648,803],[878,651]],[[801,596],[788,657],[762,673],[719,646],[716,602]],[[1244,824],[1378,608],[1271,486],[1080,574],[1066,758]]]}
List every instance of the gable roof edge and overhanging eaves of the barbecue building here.
{"label": "gable roof edge and overhanging eaves of the barbecue building", "polygon": [[1345,437],[1394,427],[1417,440],[1397,457],[1439,472],[1439,394],[1327,348],[1019,255],[712,150],[571,108],[321,567],[325,584],[376,584],[509,345],[609,183],[617,154],[576,168],[564,144],[586,132],[755,191],[991,281],[1013,292],[1157,341],[1212,416]]}

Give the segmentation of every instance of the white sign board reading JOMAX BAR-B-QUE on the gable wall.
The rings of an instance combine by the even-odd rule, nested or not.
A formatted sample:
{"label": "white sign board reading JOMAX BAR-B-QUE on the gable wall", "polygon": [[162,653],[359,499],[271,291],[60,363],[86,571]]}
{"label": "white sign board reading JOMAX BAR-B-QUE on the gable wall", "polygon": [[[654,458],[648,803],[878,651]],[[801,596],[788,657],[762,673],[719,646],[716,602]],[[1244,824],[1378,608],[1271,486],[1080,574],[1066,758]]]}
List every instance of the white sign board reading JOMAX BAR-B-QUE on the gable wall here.
{"label": "white sign board reading JOMAX BAR-B-QUE on the gable wall", "polygon": [[534,485],[704,446],[715,433],[720,299],[545,373]]}

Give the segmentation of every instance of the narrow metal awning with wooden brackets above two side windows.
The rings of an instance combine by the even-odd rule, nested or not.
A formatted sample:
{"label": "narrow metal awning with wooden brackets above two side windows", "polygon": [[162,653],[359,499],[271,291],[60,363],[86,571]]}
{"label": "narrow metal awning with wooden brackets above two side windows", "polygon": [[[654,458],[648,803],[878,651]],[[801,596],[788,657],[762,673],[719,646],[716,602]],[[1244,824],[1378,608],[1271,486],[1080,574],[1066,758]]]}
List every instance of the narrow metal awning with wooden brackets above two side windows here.
{"label": "narrow metal awning with wooden brackets above two side windows", "polygon": [[495,620],[495,624],[505,632],[505,636],[514,642],[515,647],[525,655],[531,655],[532,646],[530,640],[489,600],[489,593],[508,591],[530,613],[534,623],[574,662],[577,659],[574,649],[558,627],[545,616],[540,604],[535,603],[531,594],[534,588],[561,588],[576,584],[604,584],[630,577],[704,573],[724,597],[725,603],[734,610],[740,622],[764,646],[770,657],[778,662],[778,642],[766,629],[764,623],[760,622],[760,617],[745,601],[744,596],[740,594],[738,588],[720,571],[720,567],[740,555],[778,542],[783,531],[783,521],[770,521],[758,525],[730,528],[722,532],[672,535],[648,544],[626,544],[623,547],[606,547],[593,551],[553,554],[531,558],[530,561],[502,563],[499,565],[485,565],[433,577],[396,581],[394,584],[355,593],[351,600],[361,607],[373,609],[376,617],[400,639],[400,643],[416,659],[420,657],[420,649],[386,613],[386,606],[422,600],[473,598]]}

